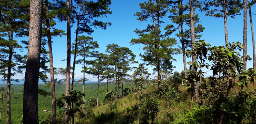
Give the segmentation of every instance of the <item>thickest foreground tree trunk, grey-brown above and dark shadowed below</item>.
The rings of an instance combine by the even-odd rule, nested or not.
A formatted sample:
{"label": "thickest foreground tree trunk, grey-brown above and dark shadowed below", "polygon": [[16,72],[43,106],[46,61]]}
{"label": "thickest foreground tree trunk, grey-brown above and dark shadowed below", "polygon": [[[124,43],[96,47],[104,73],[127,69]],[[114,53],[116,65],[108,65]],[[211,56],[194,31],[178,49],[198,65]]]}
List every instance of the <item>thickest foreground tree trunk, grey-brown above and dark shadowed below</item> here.
{"label": "thickest foreground tree trunk, grey-brown above and dark shadowed below", "polygon": [[30,0],[29,41],[23,94],[23,123],[38,122],[38,80],[42,40],[43,1]]}

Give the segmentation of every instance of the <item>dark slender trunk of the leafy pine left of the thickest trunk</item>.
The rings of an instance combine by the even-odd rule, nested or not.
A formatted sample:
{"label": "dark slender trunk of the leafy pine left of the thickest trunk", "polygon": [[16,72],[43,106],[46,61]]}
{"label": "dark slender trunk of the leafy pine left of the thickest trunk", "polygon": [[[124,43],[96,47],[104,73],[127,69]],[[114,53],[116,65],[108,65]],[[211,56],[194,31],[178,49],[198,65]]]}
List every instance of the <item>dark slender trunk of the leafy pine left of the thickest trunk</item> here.
{"label": "dark slender trunk of the leafy pine left of the thickest trunk", "polygon": [[[10,40],[13,40],[13,32],[11,31]],[[7,73],[7,118],[6,124],[11,124],[11,69],[12,69],[12,54],[13,54],[13,47],[9,46],[9,66],[8,66],[8,73]]]}

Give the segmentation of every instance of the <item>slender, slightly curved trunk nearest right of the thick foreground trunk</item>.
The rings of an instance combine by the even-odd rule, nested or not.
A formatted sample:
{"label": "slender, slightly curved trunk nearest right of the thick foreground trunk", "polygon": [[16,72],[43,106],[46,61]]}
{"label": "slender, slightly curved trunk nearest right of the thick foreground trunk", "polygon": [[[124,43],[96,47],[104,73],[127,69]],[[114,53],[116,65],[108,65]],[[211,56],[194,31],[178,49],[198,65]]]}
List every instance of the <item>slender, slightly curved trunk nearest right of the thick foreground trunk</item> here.
{"label": "slender, slightly curved trunk nearest right of the thick foreground trunk", "polygon": [[[48,0],[45,0],[46,15],[48,16]],[[51,39],[51,29],[50,29],[50,19],[46,19],[47,26],[47,37],[48,37],[48,47],[49,47],[49,60],[50,60],[50,76],[51,76],[51,89],[52,89],[52,120],[56,123],[56,97],[55,97],[55,83],[54,83],[54,70],[53,70],[53,51],[52,51],[52,39]]]}

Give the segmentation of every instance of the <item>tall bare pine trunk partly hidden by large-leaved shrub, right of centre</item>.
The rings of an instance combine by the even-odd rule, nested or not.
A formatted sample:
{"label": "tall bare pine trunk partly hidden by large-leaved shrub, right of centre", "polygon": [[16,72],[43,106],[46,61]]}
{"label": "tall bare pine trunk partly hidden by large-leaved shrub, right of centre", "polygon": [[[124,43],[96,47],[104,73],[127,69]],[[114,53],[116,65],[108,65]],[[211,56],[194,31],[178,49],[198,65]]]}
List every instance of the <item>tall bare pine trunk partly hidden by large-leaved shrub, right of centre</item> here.
{"label": "tall bare pine trunk partly hidden by large-leaved shrub, right of centre", "polygon": [[[194,48],[193,43],[195,43],[195,27],[194,27],[194,1],[189,0],[189,11],[190,11],[190,32],[191,32],[191,45],[192,49]],[[196,62],[196,58],[192,57],[192,61]],[[193,68],[193,71],[195,72],[195,68]],[[195,102],[197,103],[198,99],[198,83],[196,82],[195,79],[193,79],[193,85],[194,89],[192,92],[193,99],[195,99]]]}

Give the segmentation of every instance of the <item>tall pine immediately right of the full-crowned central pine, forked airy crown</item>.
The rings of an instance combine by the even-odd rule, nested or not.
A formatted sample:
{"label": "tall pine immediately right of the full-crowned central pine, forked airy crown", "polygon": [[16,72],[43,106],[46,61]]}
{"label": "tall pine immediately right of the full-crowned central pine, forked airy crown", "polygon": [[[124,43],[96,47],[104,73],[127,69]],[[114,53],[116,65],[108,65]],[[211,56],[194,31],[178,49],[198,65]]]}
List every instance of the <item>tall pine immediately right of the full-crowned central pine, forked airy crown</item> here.
{"label": "tall pine immediately right of the full-crowned central pine, forked airy crown", "polygon": [[[166,32],[166,34],[170,35],[174,33],[174,31],[179,31],[179,33],[175,34],[177,37],[180,39],[181,51],[186,51],[186,48],[191,47],[191,32],[190,30],[185,29],[184,25],[190,26],[190,14],[187,13],[189,12],[189,5],[188,4],[183,4],[182,0],[177,0],[177,1],[167,1],[167,5],[171,6],[170,13],[171,15],[169,18],[172,20],[174,24],[177,25],[177,27],[174,27],[173,25],[168,25],[167,27],[169,28]],[[200,7],[199,4],[196,4],[195,7]],[[198,18],[198,14],[194,16],[193,18],[194,25],[196,22],[200,22]],[[202,25],[194,26],[194,34],[199,34],[201,33],[205,28],[202,27]],[[200,40],[201,35],[195,35],[196,39]],[[187,71],[187,62],[186,62],[186,56],[185,52],[182,52],[183,56],[183,66],[184,70]],[[187,78],[187,74],[185,74],[185,78]]]}

